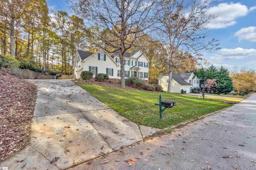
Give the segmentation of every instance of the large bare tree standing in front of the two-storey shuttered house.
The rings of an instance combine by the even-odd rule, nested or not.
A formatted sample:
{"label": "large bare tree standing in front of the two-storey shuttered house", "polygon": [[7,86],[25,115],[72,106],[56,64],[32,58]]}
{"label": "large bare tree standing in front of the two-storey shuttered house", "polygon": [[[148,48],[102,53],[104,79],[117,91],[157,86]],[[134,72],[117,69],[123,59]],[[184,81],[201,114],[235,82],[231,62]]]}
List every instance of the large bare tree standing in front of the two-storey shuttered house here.
{"label": "large bare tree standing in front of the two-storey shuttered house", "polygon": [[67,1],[86,20],[85,25],[99,28],[100,32],[92,32],[100,40],[95,46],[109,53],[118,52],[121,58],[121,88],[125,88],[124,53],[155,23],[157,0]]}

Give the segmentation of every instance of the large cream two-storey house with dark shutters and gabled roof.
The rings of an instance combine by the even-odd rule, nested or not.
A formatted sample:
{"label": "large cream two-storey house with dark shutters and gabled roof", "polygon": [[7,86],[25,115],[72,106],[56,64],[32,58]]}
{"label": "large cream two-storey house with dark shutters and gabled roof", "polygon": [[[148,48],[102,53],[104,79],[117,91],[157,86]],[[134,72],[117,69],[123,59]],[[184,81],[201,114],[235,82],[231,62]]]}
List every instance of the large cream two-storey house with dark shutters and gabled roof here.
{"label": "large cream two-storey house with dark shutters and gabled roof", "polygon": [[[138,77],[148,84],[148,58],[138,50],[125,53],[125,78]],[[107,54],[101,49],[97,53],[77,50],[74,63],[75,78],[79,79],[82,71],[91,71],[93,78],[98,73],[108,74],[109,79],[121,79],[121,60],[117,53]]]}

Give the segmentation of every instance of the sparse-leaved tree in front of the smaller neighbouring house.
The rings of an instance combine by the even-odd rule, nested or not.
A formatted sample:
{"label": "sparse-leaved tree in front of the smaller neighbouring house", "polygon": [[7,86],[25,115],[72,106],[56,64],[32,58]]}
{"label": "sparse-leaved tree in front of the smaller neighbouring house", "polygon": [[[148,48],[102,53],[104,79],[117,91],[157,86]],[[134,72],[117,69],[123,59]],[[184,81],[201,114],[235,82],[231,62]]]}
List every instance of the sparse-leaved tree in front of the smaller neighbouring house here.
{"label": "sparse-leaved tree in front of the smaller neighbouring house", "polygon": [[207,36],[205,25],[213,18],[206,14],[209,5],[207,1],[202,0],[163,0],[161,3],[162,10],[156,29],[167,52],[165,60],[169,65],[167,92],[171,92],[173,68],[182,61],[180,58],[182,55],[179,53],[189,52],[199,56],[201,50],[212,50],[218,46],[215,39],[207,42],[204,40]]}

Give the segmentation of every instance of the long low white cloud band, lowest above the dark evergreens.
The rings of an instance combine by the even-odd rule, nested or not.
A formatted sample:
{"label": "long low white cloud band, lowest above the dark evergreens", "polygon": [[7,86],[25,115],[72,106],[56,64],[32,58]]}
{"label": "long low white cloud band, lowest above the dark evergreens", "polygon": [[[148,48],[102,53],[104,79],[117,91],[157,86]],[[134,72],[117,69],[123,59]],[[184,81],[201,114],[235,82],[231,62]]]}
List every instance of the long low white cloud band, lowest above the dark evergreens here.
{"label": "long low white cloud band, lowest above the dark evergreens", "polygon": [[226,60],[241,60],[248,57],[256,57],[256,49],[244,49],[240,47],[234,49],[223,48],[211,56],[210,61],[220,64]]}

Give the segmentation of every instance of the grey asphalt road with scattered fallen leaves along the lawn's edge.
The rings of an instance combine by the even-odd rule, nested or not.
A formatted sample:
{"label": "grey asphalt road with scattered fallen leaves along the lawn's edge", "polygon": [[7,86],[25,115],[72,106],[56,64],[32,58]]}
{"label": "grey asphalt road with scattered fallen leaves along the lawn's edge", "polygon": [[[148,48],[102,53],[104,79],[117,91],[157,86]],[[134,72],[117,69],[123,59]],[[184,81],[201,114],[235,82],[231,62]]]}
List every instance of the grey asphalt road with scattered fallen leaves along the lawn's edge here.
{"label": "grey asphalt road with scattered fallen leaves along the lawn's edge", "polygon": [[170,134],[71,169],[256,169],[256,94]]}

